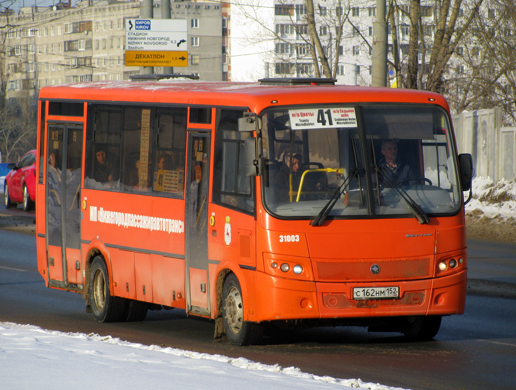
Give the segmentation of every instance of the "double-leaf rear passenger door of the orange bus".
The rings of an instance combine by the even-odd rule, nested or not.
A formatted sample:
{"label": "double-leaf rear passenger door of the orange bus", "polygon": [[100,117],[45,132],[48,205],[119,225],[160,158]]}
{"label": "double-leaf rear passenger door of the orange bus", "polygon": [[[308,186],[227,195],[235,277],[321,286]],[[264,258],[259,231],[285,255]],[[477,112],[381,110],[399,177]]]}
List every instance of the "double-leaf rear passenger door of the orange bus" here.
{"label": "double-leaf rear passenger door of the orange bus", "polygon": [[48,124],[46,243],[49,284],[80,289],[83,126]]}

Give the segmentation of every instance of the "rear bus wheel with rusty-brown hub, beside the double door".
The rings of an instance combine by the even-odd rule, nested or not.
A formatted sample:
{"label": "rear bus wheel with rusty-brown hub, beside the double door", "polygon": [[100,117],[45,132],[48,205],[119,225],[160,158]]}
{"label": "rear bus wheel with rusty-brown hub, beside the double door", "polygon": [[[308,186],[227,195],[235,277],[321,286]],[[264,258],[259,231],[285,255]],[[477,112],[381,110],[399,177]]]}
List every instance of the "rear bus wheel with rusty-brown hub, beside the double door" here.
{"label": "rear bus wheel with rusty-brown hub, beside the double door", "polygon": [[111,295],[107,267],[102,256],[95,256],[91,263],[88,295],[95,320],[99,322],[124,320],[126,304],[123,298]]}

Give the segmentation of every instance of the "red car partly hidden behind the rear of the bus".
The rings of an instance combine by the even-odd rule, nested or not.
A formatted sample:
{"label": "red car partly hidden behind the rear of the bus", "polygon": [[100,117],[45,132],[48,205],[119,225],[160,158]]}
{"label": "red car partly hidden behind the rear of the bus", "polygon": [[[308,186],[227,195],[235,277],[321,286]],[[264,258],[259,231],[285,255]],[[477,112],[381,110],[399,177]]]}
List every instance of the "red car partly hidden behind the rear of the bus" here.
{"label": "red car partly hidden behind the rear of the bus", "polygon": [[25,211],[34,206],[36,200],[36,150],[31,150],[7,168],[12,169],[5,176],[4,203],[5,208],[15,207],[23,203]]}

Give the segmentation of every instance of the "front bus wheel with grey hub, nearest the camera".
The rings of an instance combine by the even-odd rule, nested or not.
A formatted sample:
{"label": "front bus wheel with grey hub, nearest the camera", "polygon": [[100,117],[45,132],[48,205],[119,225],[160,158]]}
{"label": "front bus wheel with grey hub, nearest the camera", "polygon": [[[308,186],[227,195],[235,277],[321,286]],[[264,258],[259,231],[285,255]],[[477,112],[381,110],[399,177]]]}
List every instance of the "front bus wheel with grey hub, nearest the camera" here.
{"label": "front bus wheel with grey hub, nearest the camera", "polygon": [[255,344],[262,337],[263,327],[260,324],[244,321],[242,290],[234,273],[230,273],[224,281],[222,320],[225,334],[233,345]]}

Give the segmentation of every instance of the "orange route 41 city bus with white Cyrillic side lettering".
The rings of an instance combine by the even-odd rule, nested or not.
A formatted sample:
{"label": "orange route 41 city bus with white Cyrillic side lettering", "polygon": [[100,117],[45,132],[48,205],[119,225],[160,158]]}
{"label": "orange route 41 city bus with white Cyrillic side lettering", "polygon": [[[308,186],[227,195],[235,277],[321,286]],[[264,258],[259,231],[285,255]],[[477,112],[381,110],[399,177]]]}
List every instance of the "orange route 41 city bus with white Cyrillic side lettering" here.
{"label": "orange route 41 city bus with white Cyrillic side lettering", "polygon": [[181,308],[235,345],[321,323],[427,339],[463,313],[471,155],[441,95],[154,78],[40,90],[47,286],[102,322]]}

